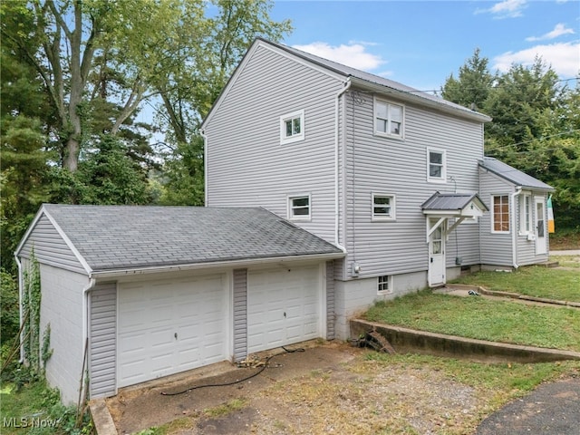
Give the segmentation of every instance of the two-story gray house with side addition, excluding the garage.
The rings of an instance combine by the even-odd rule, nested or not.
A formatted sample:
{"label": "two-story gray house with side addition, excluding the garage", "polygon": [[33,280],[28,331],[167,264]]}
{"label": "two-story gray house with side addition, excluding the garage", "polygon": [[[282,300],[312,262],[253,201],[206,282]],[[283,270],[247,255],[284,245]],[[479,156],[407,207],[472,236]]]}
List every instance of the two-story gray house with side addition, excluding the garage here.
{"label": "two-story gray house with side addition, excluding the garage", "polygon": [[202,131],[206,205],[260,206],[343,248],[336,331],[462,270],[547,259],[550,186],[484,157],[490,118],[257,39]]}

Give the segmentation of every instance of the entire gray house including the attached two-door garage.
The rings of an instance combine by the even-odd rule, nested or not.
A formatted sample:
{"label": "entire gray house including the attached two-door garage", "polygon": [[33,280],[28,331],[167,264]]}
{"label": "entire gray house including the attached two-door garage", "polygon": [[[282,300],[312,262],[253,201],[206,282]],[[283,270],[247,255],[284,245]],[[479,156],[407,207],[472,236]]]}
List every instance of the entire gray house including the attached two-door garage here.
{"label": "entire gray house including the attached two-door garage", "polygon": [[208,207],[38,211],[15,257],[23,322],[38,264],[48,382],[72,403],[88,372],[88,395],[111,396],[348,338],[373,301],[464,269],[546,261],[552,188],[484,157],[486,121],[256,40],[202,126]]}

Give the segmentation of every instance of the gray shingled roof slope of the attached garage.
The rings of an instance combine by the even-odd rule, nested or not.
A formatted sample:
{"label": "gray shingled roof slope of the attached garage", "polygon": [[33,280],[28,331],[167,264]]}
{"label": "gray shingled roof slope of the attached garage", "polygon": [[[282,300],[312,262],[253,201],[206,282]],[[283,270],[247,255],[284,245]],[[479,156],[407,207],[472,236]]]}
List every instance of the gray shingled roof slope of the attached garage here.
{"label": "gray shingled roof slope of the attached garage", "polygon": [[264,208],[43,208],[95,272],[342,253]]}

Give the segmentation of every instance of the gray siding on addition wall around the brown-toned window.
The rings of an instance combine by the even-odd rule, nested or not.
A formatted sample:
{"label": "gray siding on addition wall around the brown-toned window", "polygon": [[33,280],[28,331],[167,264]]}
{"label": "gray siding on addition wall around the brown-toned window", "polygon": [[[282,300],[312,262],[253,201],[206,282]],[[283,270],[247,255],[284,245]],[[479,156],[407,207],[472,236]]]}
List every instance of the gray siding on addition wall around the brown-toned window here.
{"label": "gray siding on addition wall around the brown-toned window", "polygon": [[509,195],[515,191],[513,185],[498,176],[479,169],[479,198],[489,208],[489,212],[479,218],[479,240],[481,249],[481,264],[495,266],[513,266],[512,256],[512,234],[511,231],[517,231],[512,228],[511,214],[517,213],[511,204],[509,204],[510,213],[510,231],[509,233],[500,234],[491,232],[491,216],[493,214],[493,204],[491,197],[493,195]]}

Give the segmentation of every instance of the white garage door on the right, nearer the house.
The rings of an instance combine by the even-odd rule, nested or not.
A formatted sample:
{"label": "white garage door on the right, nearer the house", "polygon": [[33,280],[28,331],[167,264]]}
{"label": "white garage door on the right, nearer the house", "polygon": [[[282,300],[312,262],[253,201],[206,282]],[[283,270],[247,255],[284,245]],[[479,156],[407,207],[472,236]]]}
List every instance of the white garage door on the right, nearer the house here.
{"label": "white garage door on the right, nearer the house", "polygon": [[247,352],[320,337],[318,266],[248,271]]}

